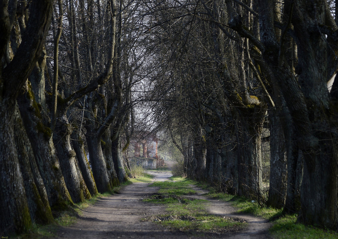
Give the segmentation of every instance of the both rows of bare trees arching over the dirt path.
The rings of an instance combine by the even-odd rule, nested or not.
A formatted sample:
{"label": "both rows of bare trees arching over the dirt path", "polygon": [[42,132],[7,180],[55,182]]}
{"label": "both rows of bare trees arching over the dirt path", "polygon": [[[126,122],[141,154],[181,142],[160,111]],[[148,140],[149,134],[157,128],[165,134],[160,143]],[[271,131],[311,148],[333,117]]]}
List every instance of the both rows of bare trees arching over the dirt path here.
{"label": "both rows of bare trees arching over the dirt path", "polygon": [[125,181],[149,129],[188,177],[338,228],[335,0],[0,6],[1,235]]}

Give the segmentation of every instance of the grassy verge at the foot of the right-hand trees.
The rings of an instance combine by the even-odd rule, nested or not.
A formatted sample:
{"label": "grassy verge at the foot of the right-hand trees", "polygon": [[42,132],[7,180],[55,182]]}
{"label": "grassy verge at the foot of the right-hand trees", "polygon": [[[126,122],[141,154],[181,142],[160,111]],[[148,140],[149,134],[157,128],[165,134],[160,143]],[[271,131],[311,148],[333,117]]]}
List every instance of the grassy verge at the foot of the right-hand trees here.
{"label": "grassy verge at the foot of the right-hand trees", "polygon": [[[217,193],[212,188],[208,194],[210,197],[231,202],[233,206],[238,208],[238,213],[248,213],[260,216],[265,219],[272,220],[270,233],[275,239],[337,239],[338,233],[330,230],[322,230],[315,227],[309,227],[300,223],[296,223],[297,215],[282,216],[282,210],[273,208],[260,207],[256,202],[248,200],[244,197],[228,195],[225,193]],[[273,220],[273,218],[278,218]]]}

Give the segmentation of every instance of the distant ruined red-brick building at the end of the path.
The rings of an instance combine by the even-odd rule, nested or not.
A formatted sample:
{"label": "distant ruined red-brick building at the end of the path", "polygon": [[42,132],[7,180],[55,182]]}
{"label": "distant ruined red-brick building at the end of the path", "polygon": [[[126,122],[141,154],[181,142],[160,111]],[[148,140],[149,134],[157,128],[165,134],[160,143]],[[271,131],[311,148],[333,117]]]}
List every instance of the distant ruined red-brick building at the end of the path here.
{"label": "distant ruined red-brick building at the end of the path", "polygon": [[156,134],[149,131],[139,131],[130,140],[130,145],[134,149],[135,157],[155,158],[158,159],[157,145],[159,139]]}

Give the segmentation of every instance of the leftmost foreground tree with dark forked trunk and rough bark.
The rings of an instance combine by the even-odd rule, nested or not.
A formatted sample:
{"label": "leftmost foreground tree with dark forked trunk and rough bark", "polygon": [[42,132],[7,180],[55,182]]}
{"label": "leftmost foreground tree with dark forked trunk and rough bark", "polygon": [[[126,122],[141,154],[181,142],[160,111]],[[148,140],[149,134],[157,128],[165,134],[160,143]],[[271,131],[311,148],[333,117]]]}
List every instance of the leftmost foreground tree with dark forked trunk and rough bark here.
{"label": "leftmost foreground tree with dark forked trunk and rough bark", "polygon": [[20,43],[14,52],[8,52],[8,46],[17,6],[16,1],[10,1],[10,7],[6,4],[0,10],[0,231],[20,233],[31,226],[31,216],[18,160],[20,152],[15,144],[14,122],[20,117],[15,110],[16,99],[40,58],[50,26],[52,1],[29,4],[31,14],[21,42],[16,42],[20,31],[13,32],[14,46]]}

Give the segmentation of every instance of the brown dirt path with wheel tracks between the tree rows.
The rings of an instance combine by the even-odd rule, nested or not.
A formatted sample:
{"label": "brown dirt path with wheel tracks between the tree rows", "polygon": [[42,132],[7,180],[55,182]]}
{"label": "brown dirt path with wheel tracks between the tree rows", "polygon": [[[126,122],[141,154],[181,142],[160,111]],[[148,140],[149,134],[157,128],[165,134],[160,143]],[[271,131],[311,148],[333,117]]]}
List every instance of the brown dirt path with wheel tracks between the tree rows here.
{"label": "brown dirt path with wheel tracks between the tree rows", "polygon": [[[151,172],[154,181],[164,181],[171,176],[170,171]],[[111,238],[151,238],[151,239],[192,239],[192,238],[268,238],[268,223],[262,219],[234,215],[234,209],[224,202],[209,200],[209,211],[227,217],[240,217],[248,221],[248,229],[236,234],[206,234],[196,236],[191,233],[171,231],[161,225],[142,218],[163,214],[163,205],[142,202],[143,198],[155,193],[157,187],[148,187],[148,183],[134,183],[124,187],[120,194],[102,197],[93,206],[83,209],[82,216],[69,227],[60,227],[54,238],[69,239],[111,239]],[[195,188],[195,197],[206,199],[203,190]],[[190,196],[191,197],[191,196]]]}

